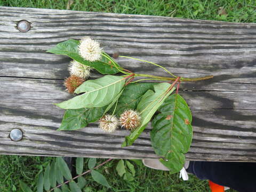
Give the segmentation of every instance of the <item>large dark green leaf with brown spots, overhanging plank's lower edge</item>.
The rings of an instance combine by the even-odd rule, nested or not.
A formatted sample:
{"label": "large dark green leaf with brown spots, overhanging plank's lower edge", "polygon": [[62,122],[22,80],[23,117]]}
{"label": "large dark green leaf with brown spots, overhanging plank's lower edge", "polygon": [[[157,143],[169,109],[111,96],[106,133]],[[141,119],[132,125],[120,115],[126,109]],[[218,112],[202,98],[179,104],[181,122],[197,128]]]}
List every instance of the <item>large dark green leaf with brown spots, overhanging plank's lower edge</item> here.
{"label": "large dark green leaf with brown spots, overhanging plank's lower edge", "polygon": [[152,121],[151,144],[155,153],[171,173],[179,172],[185,163],[185,153],[191,145],[192,116],[186,101],[179,94],[172,94],[159,108],[161,112]]}

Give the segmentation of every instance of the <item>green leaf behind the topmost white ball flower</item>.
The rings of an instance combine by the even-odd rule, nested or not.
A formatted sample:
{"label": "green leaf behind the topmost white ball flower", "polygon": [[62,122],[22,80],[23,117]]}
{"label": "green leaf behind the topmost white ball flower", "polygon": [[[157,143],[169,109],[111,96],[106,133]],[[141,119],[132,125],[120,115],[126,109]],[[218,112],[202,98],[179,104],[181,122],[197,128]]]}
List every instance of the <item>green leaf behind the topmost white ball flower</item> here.
{"label": "green leaf behind the topmost white ball flower", "polygon": [[[109,64],[109,60],[105,57],[102,57],[100,61],[87,61],[79,55],[77,51],[77,47],[80,44],[79,41],[76,41],[74,39],[69,39],[68,41],[58,43],[55,47],[52,49],[46,51],[54,54],[60,54],[60,55],[67,55],[71,59],[74,59],[80,63],[83,63],[84,65],[90,66],[101,74],[116,74],[119,71],[114,67],[113,64]],[[118,65],[118,67],[120,67]]]}

